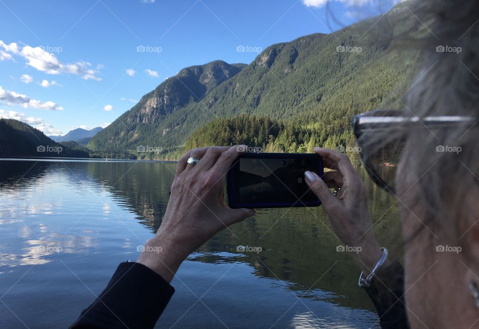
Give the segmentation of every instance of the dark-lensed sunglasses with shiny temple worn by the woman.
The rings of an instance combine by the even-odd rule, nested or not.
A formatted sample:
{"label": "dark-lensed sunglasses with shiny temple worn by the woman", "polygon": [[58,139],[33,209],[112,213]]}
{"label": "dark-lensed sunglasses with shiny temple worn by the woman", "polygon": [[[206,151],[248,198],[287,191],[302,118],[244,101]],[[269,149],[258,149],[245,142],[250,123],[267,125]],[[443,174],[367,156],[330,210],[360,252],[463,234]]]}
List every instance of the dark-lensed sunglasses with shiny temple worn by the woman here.
{"label": "dark-lensed sunglasses with shiny temple worn by the woman", "polygon": [[[405,128],[452,128],[465,124],[474,125],[477,121],[478,118],[470,116],[419,118],[405,116],[404,111],[376,109],[356,115],[353,129],[361,160],[369,176],[378,186],[394,194],[396,165],[406,144]],[[382,140],[378,140],[378,136],[381,136]]]}

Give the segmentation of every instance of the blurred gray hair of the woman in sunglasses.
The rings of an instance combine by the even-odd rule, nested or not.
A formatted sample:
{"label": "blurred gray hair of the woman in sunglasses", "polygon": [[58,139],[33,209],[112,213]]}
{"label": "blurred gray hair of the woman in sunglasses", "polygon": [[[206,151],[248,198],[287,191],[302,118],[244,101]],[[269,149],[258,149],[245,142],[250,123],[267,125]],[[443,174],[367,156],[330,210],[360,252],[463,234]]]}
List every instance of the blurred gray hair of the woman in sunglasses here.
{"label": "blurred gray hair of the woman in sunglasses", "polygon": [[[424,26],[420,36],[417,31],[405,35],[405,39],[415,41],[410,44],[419,47],[422,58],[421,69],[400,102],[405,115],[419,119],[435,115],[479,117],[479,1],[425,0],[405,4]],[[437,48],[441,46],[461,50],[441,51],[444,49]],[[417,184],[420,195],[416,202],[426,206],[424,224],[434,233],[459,239],[465,231],[460,209],[464,196],[479,182],[478,126],[479,123],[454,128],[402,127],[367,142],[378,148],[406,139],[401,164],[407,173],[402,174]],[[461,151],[438,152],[439,145],[460,147]],[[458,218],[444,218],[445,207],[457,209]]]}

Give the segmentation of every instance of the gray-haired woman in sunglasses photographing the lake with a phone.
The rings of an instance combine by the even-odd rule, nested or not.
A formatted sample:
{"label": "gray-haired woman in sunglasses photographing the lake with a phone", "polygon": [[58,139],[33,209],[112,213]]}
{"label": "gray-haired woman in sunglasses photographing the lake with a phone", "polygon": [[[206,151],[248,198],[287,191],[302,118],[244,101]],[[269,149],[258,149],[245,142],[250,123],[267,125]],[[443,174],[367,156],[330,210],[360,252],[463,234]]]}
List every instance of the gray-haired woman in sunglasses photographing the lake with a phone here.
{"label": "gray-haired woman in sunglasses photographing the lake with a phone", "polygon": [[[398,263],[384,257],[381,247],[388,246],[376,242],[365,188],[345,155],[316,148],[325,166],[335,171],[323,178],[307,172],[305,179],[342,242],[362,247],[353,257],[383,328],[476,328],[479,2],[437,0],[419,6],[413,11],[425,13],[420,39],[425,60],[408,100],[398,99],[404,111],[366,113],[355,120],[372,178],[398,197],[404,276]],[[378,159],[375,150],[383,147],[400,155],[395,179],[379,175],[371,165]],[[236,146],[207,147],[181,158],[163,223],[146,244],[151,248],[145,248],[136,263],[120,264],[73,328],[155,325],[174,292],[169,282],[181,262],[220,230],[254,214],[223,204],[222,178],[238,155]],[[200,160],[188,163],[190,158]],[[340,188],[337,196],[328,187]],[[159,248],[162,252],[155,252]]]}

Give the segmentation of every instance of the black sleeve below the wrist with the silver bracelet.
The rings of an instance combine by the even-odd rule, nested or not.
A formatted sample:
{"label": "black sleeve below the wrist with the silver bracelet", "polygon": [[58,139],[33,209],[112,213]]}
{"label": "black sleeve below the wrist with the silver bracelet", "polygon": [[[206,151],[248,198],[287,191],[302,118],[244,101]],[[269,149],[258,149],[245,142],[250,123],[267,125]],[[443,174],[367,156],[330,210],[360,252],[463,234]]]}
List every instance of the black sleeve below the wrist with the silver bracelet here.
{"label": "black sleeve below the wrist with the silver bracelet", "polygon": [[381,328],[409,329],[404,303],[404,269],[399,262],[379,271],[365,290],[378,311]]}

